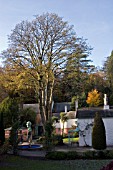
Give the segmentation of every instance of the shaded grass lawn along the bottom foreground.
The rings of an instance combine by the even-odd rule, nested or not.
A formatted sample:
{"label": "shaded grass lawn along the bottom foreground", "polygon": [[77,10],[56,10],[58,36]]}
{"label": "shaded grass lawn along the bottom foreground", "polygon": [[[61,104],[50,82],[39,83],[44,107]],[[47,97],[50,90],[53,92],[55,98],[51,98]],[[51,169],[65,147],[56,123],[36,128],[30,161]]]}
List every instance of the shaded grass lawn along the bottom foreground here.
{"label": "shaded grass lawn along the bottom foreground", "polygon": [[19,156],[0,158],[0,170],[99,170],[111,160],[33,160]]}

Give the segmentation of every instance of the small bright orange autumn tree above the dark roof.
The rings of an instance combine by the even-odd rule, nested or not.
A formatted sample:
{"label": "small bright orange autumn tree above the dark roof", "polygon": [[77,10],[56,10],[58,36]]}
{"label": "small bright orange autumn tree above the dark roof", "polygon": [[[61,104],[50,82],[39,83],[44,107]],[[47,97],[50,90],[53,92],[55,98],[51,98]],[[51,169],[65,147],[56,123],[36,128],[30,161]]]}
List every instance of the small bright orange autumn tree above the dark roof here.
{"label": "small bright orange autumn tree above the dark roof", "polygon": [[87,104],[89,106],[100,106],[102,104],[102,97],[101,94],[96,90],[92,90],[91,92],[88,93],[88,97],[86,100]]}

